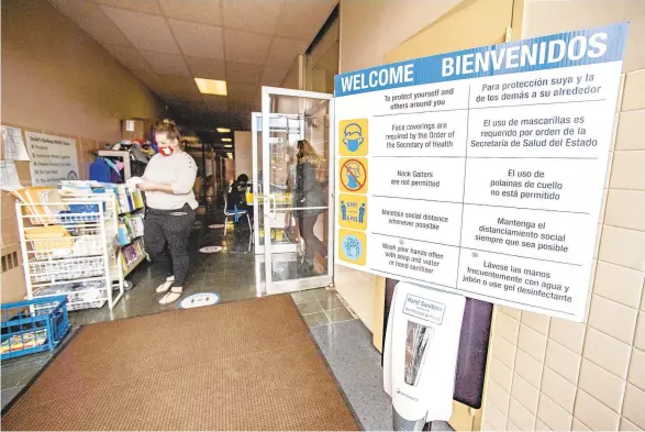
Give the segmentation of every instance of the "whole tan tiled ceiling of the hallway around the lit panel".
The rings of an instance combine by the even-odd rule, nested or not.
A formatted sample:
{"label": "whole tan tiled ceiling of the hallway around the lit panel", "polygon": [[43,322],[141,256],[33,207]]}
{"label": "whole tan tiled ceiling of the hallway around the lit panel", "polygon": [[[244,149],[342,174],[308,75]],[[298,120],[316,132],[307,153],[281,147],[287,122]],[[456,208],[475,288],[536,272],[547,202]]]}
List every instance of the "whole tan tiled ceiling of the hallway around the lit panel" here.
{"label": "whole tan tiled ceiling of the hallway around the lit panel", "polygon": [[[49,0],[197,130],[251,128],[337,0]],[[201,95],[193,78],[226,80]]]}

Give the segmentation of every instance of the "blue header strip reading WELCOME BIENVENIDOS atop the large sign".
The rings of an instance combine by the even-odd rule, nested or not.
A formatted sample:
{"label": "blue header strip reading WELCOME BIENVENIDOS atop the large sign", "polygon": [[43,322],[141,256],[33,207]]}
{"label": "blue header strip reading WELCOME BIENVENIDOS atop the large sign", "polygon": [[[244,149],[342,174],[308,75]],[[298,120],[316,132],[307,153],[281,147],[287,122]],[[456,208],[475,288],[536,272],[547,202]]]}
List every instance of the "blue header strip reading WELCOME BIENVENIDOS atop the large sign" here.
{"label": "blue header strip reading WELCOME BIENVENIDOS atop the large sign", "polygon": [[415,58],[336,75],[334,96],[623,59],[627,23]]}

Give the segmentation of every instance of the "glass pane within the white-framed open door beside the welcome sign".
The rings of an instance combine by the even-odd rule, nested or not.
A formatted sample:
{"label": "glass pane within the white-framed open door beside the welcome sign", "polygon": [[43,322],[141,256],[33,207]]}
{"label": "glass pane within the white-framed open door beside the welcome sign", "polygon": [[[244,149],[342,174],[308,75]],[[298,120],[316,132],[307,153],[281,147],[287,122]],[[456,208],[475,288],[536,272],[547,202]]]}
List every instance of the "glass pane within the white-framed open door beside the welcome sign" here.
{"label": "glass pane within the white-framed open door beside the welcome sign", "polygon": [[273,279],[327,275],[330,101],[271,95],[269,112]]}

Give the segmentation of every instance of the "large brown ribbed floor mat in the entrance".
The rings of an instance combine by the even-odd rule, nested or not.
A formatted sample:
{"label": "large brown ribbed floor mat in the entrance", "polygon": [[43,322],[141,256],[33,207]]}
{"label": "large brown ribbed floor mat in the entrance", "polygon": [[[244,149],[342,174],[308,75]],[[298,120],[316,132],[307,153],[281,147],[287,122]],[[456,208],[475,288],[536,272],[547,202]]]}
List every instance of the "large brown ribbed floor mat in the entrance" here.
{"label": "large brown ribbed floor mat in the entrance", "polygon": [[290,296],[92,324],[3,430],[357,430]]}

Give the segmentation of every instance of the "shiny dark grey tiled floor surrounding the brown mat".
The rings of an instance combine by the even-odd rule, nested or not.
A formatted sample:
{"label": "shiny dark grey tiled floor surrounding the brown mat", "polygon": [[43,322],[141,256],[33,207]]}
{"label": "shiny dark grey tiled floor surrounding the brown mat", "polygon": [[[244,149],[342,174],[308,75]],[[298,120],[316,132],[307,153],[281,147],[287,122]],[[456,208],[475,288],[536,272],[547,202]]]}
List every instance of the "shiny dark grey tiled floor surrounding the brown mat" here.
{"label": "shiny dark grey tiled floor surrounding the brown mat", "polygon": [[[216,223],[209,221],[210,223]],[[203,224],[208,226],[207,223]],[[223,230],[200,229],[191,239],[192,270],[185,295],[212,291],[220,302],[257,296],[255,254],[249,247],[248,230],[236,229],[223,236]],[[218,254],[201,254],[202,246],[221,245]],[[158,304],[155,288],[165,278],[163,264],[143,264],[131,277],[134,288],[110,311],[107,307],[70,312],[74,330],[81,324],[118,320],[177,308],[177,303]],[[370,334],[345,307],[334,290],[319,288],[292,293],[298,309],[332,365],[334,374],[364,425],[371,430],[389,429],[389,400],[383,397],[380,355],[371,346]],[[340,328],[336,326],[341,325]],[[360,343],[357,343],[360,341]],[[353,350],[341,356],[343,350]],[[2,407],[41,370],[52,353],[2,362]],[[369,373],[366,373],[369,365]],[[352,373],[354,370],[354,373]],[[371,400],[371,402],[369,402]],[[378,417],[375,417],[378,413]]]}

